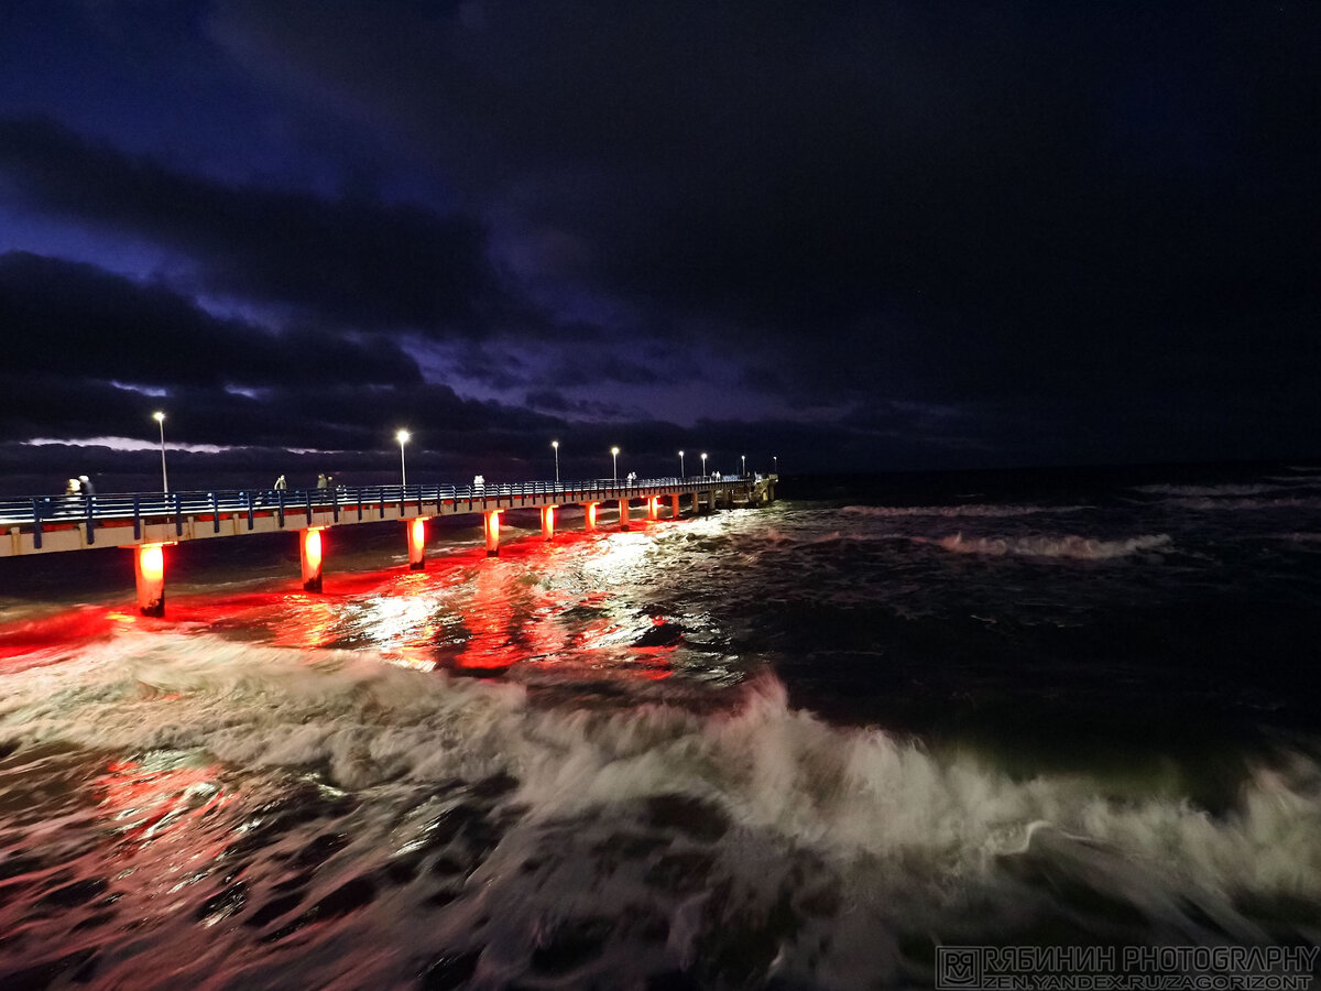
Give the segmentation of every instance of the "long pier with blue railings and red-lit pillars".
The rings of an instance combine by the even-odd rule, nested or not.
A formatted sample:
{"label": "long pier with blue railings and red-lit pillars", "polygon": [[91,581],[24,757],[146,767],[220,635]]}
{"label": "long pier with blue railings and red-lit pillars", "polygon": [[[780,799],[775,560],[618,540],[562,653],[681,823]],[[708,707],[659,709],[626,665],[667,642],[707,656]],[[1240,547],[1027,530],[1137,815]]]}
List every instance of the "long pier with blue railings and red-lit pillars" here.
{"label": "long pier with blue railings and red-lit pillars", "polygon": [[408,567],[425,568],[427,521],[482,517],[486,555],[499,555],[501,513],[536,509],[542,539],[555,538],[556,510],[583,506],[583,525],[597,529],[598,507],[617,509],[616,526],[627,530],[634,503],[639,519],[752,506],[775,498],[778,476],[700,476],[631,481],[518,482],[513,485],[383,485],[300,490],[159,492],[108,495],[36,495],[0,499],[0,558],[133,550],[137,608],[165,614],[162,548],[189,540],[289,531],[299,540],[303,588],[322,591],[321,531],[336,526],[403,522]]}

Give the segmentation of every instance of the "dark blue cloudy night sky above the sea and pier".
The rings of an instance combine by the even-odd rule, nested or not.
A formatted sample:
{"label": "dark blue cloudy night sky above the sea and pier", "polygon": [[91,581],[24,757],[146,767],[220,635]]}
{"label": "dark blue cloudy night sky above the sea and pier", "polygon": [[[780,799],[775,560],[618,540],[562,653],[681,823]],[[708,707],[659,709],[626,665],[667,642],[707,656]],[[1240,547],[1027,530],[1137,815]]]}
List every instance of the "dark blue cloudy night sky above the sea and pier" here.
{"label": "dark blue cloudy night sky above the sea and pier", "polygon": [[1314,457],[1318,188],[1316,0],[8,0],[0,484]]}

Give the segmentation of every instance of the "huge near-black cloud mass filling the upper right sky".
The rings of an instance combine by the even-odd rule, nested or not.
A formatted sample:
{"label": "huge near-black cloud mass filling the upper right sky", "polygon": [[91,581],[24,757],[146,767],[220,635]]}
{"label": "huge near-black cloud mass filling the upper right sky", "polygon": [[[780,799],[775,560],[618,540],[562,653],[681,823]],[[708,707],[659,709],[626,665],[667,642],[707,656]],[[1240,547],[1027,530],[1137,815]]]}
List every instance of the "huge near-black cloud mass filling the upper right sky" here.
{"label": "huge near-black cloud mass filling the upper right sky", "polygon": [[1321,357],[1314,5],[221,11],[254,71],[804,396],[1205,404]]}

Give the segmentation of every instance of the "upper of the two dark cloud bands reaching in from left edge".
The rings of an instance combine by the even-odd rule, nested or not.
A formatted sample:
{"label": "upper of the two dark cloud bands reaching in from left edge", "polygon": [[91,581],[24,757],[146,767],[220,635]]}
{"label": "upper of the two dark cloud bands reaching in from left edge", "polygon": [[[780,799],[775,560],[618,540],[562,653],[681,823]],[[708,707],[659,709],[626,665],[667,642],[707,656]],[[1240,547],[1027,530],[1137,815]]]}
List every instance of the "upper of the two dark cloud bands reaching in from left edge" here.
{"label": "upper of the two dark cloud bands reaching in from left edge", "polygon": [[518,317],[461,214],[225,185],[33,119],[0,120],[0,182],[30,207],[174,248],[213,292],[437,336]]}

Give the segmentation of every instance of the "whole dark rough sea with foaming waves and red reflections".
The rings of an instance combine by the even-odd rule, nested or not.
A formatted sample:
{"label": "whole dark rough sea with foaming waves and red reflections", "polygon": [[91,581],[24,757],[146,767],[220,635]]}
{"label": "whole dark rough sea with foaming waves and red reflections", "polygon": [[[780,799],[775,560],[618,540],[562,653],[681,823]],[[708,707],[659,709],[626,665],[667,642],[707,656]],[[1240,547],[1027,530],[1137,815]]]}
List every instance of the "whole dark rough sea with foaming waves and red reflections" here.
{"label": "whole dark rough sea with foaming waves and red reflections", "polygon": [[[0,988],[931,987],[1321,945],[1321,466],[0,560]],[[1313,954],[1314,959],[1314,954]],[[1234,984],[1240,986],[1240,984]]]}

